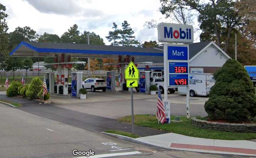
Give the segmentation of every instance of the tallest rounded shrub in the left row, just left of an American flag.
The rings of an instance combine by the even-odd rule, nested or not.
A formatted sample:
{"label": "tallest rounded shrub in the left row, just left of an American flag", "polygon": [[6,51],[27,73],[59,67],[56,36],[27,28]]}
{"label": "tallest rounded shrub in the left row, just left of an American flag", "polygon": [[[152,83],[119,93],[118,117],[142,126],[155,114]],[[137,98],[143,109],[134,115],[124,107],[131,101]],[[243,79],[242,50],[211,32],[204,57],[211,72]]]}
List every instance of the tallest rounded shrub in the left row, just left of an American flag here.
{"label": "tallest rounded shrub in the left row, just left of an American flag", "polygon": [[39,77],[33,78],[33,80],[31,81],[31,83],[28,86],[28,89],[26,91],[26,96],[29,99],[38,99],[37,94],[42,89],[42,87],[43,87],[42,84],[43,84],[43,82],[40,80]]}

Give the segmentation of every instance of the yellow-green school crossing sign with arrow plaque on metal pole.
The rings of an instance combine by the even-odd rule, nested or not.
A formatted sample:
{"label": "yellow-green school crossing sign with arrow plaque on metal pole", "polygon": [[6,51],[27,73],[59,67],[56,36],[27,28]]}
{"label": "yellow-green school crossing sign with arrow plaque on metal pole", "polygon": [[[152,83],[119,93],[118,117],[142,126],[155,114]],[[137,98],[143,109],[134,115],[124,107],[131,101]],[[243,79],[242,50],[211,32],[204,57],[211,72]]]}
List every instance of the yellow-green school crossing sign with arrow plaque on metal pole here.
{"label": "yellow-green school crossing sign with arrow plaque on metal pole", "polygon": [[131,107],[132,107],[132,133],[134,133],[134,116],[133,116],[133,87],[138,87],[139,70],[133,62],[130,62],[127,68],[124,70],[126,87],[131,91]]}

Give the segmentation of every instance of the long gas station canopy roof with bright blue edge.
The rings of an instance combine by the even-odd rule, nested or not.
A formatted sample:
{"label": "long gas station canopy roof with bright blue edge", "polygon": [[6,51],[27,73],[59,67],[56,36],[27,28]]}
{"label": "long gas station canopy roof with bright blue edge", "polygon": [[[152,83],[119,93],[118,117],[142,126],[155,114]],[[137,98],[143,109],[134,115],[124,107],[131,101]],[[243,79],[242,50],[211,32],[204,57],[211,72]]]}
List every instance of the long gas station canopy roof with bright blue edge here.
{"label": "long gas station canopy roof with bright blue edge", "polygon": [[157,48],[23,41],[9,55],[15,57],[54,57],[57,53],[65,53],[78,58],[117,58],[118,55],[130,55],[132,57],[163,56],[163,51]]}

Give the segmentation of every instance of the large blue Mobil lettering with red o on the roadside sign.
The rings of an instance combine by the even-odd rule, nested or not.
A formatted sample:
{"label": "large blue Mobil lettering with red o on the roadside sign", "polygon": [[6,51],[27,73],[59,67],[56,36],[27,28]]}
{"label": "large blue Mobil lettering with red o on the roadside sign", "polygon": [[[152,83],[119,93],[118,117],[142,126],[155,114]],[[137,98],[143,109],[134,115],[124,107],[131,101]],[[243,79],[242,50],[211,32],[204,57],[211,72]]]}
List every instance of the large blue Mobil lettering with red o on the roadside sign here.
{"label": "large blue Mobil lettering with red o on the roadside sign", "polygon": [[172,27],[164,27],[164,37],[165,38],[175,38],[175,39],[190,39],[191,40],[191,29],[186,29],[186,31],[182,30],[182,28],[178,28],[178,30],[173,30]]}

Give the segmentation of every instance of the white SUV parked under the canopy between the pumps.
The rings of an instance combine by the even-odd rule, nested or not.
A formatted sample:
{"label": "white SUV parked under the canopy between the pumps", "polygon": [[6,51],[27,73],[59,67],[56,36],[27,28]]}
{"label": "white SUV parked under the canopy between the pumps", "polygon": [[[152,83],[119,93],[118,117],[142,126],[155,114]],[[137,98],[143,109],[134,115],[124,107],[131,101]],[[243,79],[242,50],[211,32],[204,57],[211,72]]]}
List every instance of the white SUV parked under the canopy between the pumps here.
{"label": "white SUV parked under the canopy between the pumps", "polygon": [[82,87],[86,89],[91,89],[92,92],[95,92],[95,90],[102,90],[103,92],[105,92],[107,89],[107,84],[104,79],[87,78],[82,83]]}

